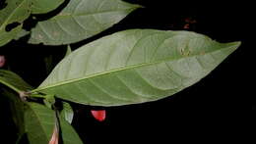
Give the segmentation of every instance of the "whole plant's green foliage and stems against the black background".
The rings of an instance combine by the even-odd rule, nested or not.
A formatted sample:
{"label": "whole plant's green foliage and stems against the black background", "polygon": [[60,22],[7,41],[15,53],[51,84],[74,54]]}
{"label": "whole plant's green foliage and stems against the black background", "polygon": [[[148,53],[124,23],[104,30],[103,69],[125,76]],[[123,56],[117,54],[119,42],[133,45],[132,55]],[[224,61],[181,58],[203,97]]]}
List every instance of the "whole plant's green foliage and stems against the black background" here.
{"label": "whole plant's green foliage and stems against the black background", "polygon": [[[50,73],[36,88],[15,72],[0,70],[1,92],[9,98],[19,129],[17,143],[27,135],[31,144],[82,144],[71,125],[74,112],[69,102],[108,107],[156,101],[198,82],[240,45],[189,31],[129,29],[72,51],[69,44],[117,24],[141,6],[121,0],[5,3],[0,10],[0,47],[28,34],[34,48],[39,43],[67,45],[65,57],[54,69],[52,57],[45,59]],[[58,13],[37,19],[52,12]],[[23,26],[29,17],[37,24],[27,31]]]}

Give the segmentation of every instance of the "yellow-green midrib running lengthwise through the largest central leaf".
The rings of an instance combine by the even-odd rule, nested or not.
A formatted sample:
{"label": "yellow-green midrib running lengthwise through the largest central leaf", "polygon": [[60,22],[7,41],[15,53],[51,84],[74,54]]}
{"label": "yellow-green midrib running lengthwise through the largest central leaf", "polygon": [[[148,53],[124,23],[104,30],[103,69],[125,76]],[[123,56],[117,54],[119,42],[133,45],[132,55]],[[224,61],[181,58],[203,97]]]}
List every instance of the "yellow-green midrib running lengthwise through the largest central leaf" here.
{"label": "yellow-green midrib running lengthwise through the largest central leaf", "polygon": [[[232,42],[232,43],[236,43],[236,42]],[[120,69],[114,69],[114,70],[106,71],[106,72],[97,72],[97,73],[94,73],[94,74],[91,74],[91,75],[87,75],[85,77],[65,80],[65,81],[55,83],[55,84],[51,84],[51,85],[48,85],[48,86],[38,87],[36,89],[33,89],[31,92],[33,93],[33,92],[41,91],[41,90],[44,90],[44,89],[47,89],[47,88],[52,88],[52,87],[56,87],[56,86],[60,86],[60,85],[65,85],[65,84],[77,82],[77,81],[89,79],[89,78],[92,78],[92,77],[100,76],[100,75],[103,75],[103,74],[108,74],[108,73],[111,73],[111,72],[121,72],[121,71],[131,70],[131,69],[135,69],[135,68],[156,65],[156,64],[160,64],[162,62],[167,62],[167,61],[176,61],[176,60],[185,59],[185,58],[192,58],[192,57],[196,57],[196,56],[204,56],[204,55],[208,55],[208,54],[213,53],[213,52],[222,51],[224,49],[235,48],[233,46],[234,45],[230,45],[228,47],[224,47],[224,48],[221,48],[221,49],[218,49],[218,50],[209,51],[209,52],[204,53],[204,54],[194,54],[194,55],[189,55],[189,56],[186,56],[186,57],[179,57],[179,58],[176,58],[176,59],[167,58],[167,59],[163,59],[163,60],[160,60],[160,61],[157,61],[157,62],[142,63],[142,64],[139,64],[139,65],[132,65],[132,66],[128,66],[128,67],[124,67],[124,68],[120,68]]]}

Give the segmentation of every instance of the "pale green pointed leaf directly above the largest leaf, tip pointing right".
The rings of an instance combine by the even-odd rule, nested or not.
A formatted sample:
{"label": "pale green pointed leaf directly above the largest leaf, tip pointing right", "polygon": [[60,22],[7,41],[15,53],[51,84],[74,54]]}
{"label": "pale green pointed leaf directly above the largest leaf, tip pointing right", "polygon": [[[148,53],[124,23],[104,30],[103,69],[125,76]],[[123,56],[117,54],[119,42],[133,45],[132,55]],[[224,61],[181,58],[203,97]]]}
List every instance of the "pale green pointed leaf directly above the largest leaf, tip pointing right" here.
{"label": "pale green pointed leaf directly above the largest leaf, tip pointing right", "polygon": [[29,42],[46,45],[78,42],[118,23],[138,7],[121,0],[71,0],[58,15],[32,28]]}

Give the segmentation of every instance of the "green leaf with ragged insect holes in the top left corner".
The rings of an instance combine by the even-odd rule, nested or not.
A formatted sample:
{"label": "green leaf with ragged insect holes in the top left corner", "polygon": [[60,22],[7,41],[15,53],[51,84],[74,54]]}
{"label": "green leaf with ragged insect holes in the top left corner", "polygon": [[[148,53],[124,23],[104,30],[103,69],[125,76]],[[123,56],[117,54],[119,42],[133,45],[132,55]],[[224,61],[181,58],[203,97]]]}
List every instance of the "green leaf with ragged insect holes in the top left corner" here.
{"label": "green leaf with ragged insect holes in the top left corner", "polygon": [[[0,46],[5,45],[22,30],[22,23],[31,15],[32,0],[6,0],[7,6],[0,11]],[[8,24],[20,25],[6,30]]]}

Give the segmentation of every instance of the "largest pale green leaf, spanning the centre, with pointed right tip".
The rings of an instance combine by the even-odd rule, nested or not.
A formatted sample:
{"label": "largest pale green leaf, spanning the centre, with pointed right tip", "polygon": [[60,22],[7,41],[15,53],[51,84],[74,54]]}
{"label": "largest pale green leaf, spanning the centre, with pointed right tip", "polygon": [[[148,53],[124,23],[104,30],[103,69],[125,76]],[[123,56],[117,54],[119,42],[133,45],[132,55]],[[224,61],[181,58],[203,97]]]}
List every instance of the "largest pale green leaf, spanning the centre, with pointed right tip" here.
{"label": "largest pale green leaf, spanning the centre, with pointed right tip", "polygon": [[188,31],[121,31],[72,52],[33,92],[96,106],[155,101],[199,81],[239,44]]}

